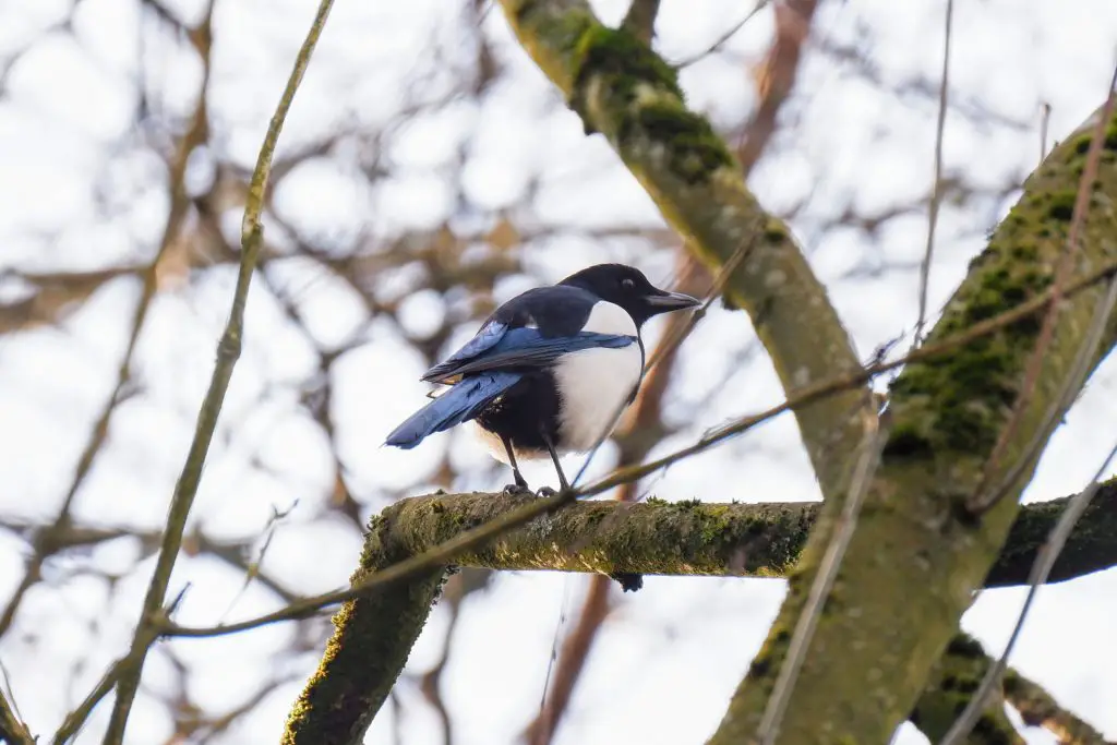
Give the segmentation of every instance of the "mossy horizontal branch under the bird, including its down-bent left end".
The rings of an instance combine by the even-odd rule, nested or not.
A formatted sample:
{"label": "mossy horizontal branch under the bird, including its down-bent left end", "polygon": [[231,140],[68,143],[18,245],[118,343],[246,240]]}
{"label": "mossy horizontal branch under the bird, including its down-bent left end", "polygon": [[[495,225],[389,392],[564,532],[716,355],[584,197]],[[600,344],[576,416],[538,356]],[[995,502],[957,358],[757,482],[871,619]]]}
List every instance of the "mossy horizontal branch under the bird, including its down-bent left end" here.
{"label": "mossy horizontal branch under the bird, including its down-bent left end", "polygon": [[[486,493],[402,499],[373,520],[353,579],[421,554],[532,499]],[[1070,499],[1020,512],[986,586],[1027,582],[1032,560]],[[795,565],[819,508],[815,503],[581,502],[503,533],[456,563],[493,570],[777,577]],[[1115,536],[1117,479],[1098,493],[1051,581],[1117,565]],[[334,617],[336,632],[322,666],[288,720],[285,745],[361,742],[403,669],[443,574],[437,569],[346,603]],[[925,709],[933,705],[927,701]]]}

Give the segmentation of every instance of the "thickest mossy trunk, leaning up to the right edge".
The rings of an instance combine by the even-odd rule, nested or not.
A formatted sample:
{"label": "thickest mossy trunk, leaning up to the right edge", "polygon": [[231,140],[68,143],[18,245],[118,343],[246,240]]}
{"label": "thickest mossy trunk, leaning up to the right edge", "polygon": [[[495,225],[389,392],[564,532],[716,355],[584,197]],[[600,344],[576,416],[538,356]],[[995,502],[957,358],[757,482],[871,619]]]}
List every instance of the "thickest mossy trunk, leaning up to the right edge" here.
{"label": "thickest mossy trunk, leaning up to the right edge", "polygon": [[[1110,238],[1117,230],[1117,122],[1107,126],[1099,183],[1076,257],[1078,273],[1117,255]],[[971,265],[932,343],[1048,288],[1067,239],[1091,127],[1072,134],[1028,180],[1020,202]],[[1044,413],[1061,393],[1102,293],[1091,288],[1060,307],[1054,341],[997,478],[1021,459],[1034,436],[1042,441],[1050,434],[1050,427],[1041,431]],[[1020,490],[1034,468],[1033,461],[1027,464],[1008,498],[980,520],[961,508],[981,483],[1009,420],[1038,332],[1035,319],[1009,326],[949,359],[909,366],[892,386],[895,423],[882,466],[781,742],[817,743],[820,733],[827,733],[822,742],[884,742],[915,704],[971,602],[971,591],[981,585],[1004,544]],[[755,732],[828,539],[825,531],[812,534],[784,609],[710,741],[715,745]],[[911,586],[920,591],[911,593]]]}

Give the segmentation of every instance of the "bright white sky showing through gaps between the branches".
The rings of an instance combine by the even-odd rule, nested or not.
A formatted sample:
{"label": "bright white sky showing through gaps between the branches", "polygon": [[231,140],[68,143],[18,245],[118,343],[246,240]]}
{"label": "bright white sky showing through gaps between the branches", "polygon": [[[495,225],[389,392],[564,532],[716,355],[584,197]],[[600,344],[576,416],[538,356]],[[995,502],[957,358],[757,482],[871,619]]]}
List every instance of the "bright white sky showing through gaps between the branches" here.
{"label": "bright white sky showing through gaps between the branches", "polygon": [[[166,4],[187,20],[195,20],[202,8],[191,0]],[[280,151],[338,127],[376,130],[409,102],[440,95],[454,79],[448,70],[469,59],[474,31],[462,27],[460,6],[446,0],[338,0]],[[829,46],[862,42],[884,89],[812,52],[787,109],[790,128],[751,180],[767,208],[798,208],[792,226],[866,356],[915,319],[918,279],[913,267],[923,254],[926,214],[897,217],[875,236],[823,228],[847,209],[877,214],[927,191],[935,98],[907,84],[920,75],[937,80],[944,7],[939,0],[825,3],[815,40]],[[82,0],[71,29],[50,30],[68,8],[61,0],[0,0],[0,59],[22,52],[0,97],[0,269],[74,270],[142,261],[151,257],[163,227],[164,175],[150,149],[166,133],[141,136],[131,128],[137,79],[142,69],[141,87],[164,120],[183,116],[192,106],[200,65],[134,0]],[[624,3],[599,2],[595,8],[613,22]],[[659,49],[670,60],[687,58],[745,10],[727,0],[665,0]],[[194,154],[192,188],[206,188],[217,161],[252,162],[313,12],[312,0],[218,0],[209,98],[216,152]],[[738,123],[752,104],[745,65],[765,49],[771,25],[770,11],[760,13],[726,46],[728,54],[684,70],[691,104],[718,126]],[[600,137],[584,136],[509,39],[498,9],[487,15],[484,32],[497,40],[507,71],[483,99],[459,101],[393,127],[382,153],[390,175],[374,187],[359,178],[353,152],[307,162],[279,187],[276,206],[283,217],[328,247],[362,230],[393,236],[432,228],[451,214],[458,226],[484,223],[534,185],[522,217],[561,230],[524,249],[533,276],[500,283],[494,288],[498,300],[604,259],[638,262],[653,280],[669,277],[671,259],[651,255],[640,241],[591,241],[563,232],[655,227],[660,221]],[[1080,0],[1072,10],[1041,0],[960,0],[946,172],[986,189],[1019,181],[1038,157],[1041,103],[1052,107],[1051,139],[1065,136],[1102,102],[1115,50],[1117,6],[1107,0]],[[421,85],[409,83],[420,78]],[[1022,126],[982,124],[978,112]],[[460,168],[459,153],[466,154]],[[944,207],[932,307],[948,296],[1010,203],[982,197]],[[360,327],[363,306],[341,283],[298,261],[276,271],[318,343],[336,343]],[[113,419],[106,450],[79,494],[79,518],[149,528],[162,524],[209,380],[232,279],[225,269],[200,273],[155,302],[136,361],[145,389]],[[412,283],[401,274],[385,278],[381,290],[407,295]],[[20,292],[18,284],[0,278],[0,295]],[[59,328],[0,337],[4,519],[46,519],[57,509],[90,423],[112,390],[137,294],[131,280],[111,283]],[[416,293],[401,323],[422,335],[447,312],[441,298]],[[464,326],[455,341],[472,328]],[[657,328],[652,326],[652,335]],[[681,430],[661,446],[663,451],[726,418],[781,399],[763,355],[744,363],[737,357],[752,338],[739,313],[715,311],[701,323],[684,347],[682,373],[668,397],[668,417]],[[383,495],[412,484],[417,475],[428,478],[447,447],[462,488],[503,484],[504,474],[490,467],[481,448],[457,434],[410,452],[380,449],[384,433],[423,401],[426,386],[417,380],[423,361],[386,324],[374,323],[366,340],[334,366],[334,410],[342,461],[367,510],[379,509]],[[300,592],[344,584],[361,541],[350,525],[323,517],[334,483],[328,442],[297,404],[298,384],[316,365],[313,347],[290,327],[275,299],[255,289],[245,355],[195,508],[195,520],[210,535],[244,536],[260,533],[274,508],[286,509],[297,500],[276,533],[265,567]],[[734,365],[739,370],[733,372]],[[1115,385],[1117,366],[1109,361],[1057,432],[1029,499],[1063,496],[1087,483],[1117,437]],[[612,457],[604,452],[596,470]],[[548,477],[544,466],[527,472],[533,483]],[[794,423],[786,418],[674,467],[655,479],[651,491],[667,499],[818,497]],[[51,732],[127,643],[151,571],[150,561],[132,566],[139,551],[135,542],[120,541],[50,564],[55,586],[34,590],[17,619],[18,632],[0,640],[15,697],[36,730]],[[23,542],[0,533],[0,596],[21,577],[26,553]],[[116,571],[121,579],[109,586],[77,571],[85,564]],[[191,590],[180,620],[209,624],[238,596],[244,577],[211,560],[184,557],[173,586],[187,582]],[[583,588],[581,577],[515,573],[467,600],[443,678],[457,745],[514,742],[537,709],[560,613],[574,614]],[[643,591],[619,601],[557,742],[704,742],[763,640],[782,592],[774,581],[649,577]],[[965,628],[999,650],[1022,596],[1016,590],[983,594]],[[254,585],[230,618],[255,615],[279,602]],[[1013,658],[1109,738],[1117,737],[1115,613],[1117,572],[1047,588]],[[446,621],[436,610],[410,671],[421,672],[437,659]],[[188,666],[192,700],[203,708],[223,710],[268,677],[293,676],[219,742],[277,741],[292,700],[316,663],[313,653],[277,657],[292,633],[280,625],[168,644]],[[90,650],[88,663],[75,671],[75,661]],[[162,742],[171,732],[157,697],[174,680],[168,659],[152,656],[130,743]],[[400,696],[402,742],[438,743],[437,720],[414,686],[402,686]],[[392,742],[392,718],[385,707],[366,742]],[[104,717],[95,717],[79,742],[95,742],[103,726]],[[1051,742],[1041,733],[1030,733],[1029,739]],[[905,728],[901,742],[919,741]]]}

